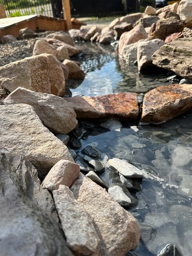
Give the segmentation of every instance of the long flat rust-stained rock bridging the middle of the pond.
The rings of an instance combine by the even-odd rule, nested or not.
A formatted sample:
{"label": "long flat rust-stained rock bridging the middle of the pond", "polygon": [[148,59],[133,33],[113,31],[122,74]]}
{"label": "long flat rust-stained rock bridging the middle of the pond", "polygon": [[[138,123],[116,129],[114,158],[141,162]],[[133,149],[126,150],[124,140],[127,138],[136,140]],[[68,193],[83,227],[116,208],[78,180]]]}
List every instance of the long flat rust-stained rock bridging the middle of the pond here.
{"label": "long flat rust-stained rock bridging the middle of the pond", "polygon": [[71,97],[77,118],[122,118],[135,120],[139,114],[136,93],[116,93],[97,97]]}

